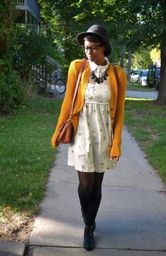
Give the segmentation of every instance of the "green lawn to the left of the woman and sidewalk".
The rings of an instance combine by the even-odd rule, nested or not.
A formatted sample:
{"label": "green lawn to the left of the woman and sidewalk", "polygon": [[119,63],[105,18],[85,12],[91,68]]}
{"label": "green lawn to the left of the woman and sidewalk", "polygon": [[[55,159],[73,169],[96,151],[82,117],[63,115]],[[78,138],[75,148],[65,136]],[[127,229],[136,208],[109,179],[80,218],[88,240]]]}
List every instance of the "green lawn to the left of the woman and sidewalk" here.
{"label": "green lawn to the left of the woman and sidewalk", "polygon": [[0,117],[0,216],[6,207],[37,212],[55,159],[51,136],[60,104],[35,97],[25,109]]}

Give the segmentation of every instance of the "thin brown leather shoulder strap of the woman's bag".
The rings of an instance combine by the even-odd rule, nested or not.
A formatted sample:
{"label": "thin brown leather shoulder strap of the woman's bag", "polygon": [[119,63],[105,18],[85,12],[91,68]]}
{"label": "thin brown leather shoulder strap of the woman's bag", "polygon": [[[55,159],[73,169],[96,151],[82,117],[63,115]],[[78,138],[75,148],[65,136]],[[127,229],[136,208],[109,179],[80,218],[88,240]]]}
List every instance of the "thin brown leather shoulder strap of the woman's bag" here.
{"label": "thin brown leather shoulder strap of the woman's bag", "polygon": [[78,91],[78,88],[79,88],[79,82],[81,80],[82,73],[83,73],[84,69],[87,68],[88,65],[89,65],[89,62],[87,61],[87,59],[82,59],[82,65],[81,65],[81,68],[79,69],[79,74],[78,74],[78,77],[77,77],[77,83],[75,85],[75,92],[74,92],[74,95],[73,95],[73,98],[72,98],[72,105],[71,105],[71,108],[70,108],[69,119],[71,118],[72,112],[74,110],[75,99],[76,99],[76,96],[77,96],[77,91]]}

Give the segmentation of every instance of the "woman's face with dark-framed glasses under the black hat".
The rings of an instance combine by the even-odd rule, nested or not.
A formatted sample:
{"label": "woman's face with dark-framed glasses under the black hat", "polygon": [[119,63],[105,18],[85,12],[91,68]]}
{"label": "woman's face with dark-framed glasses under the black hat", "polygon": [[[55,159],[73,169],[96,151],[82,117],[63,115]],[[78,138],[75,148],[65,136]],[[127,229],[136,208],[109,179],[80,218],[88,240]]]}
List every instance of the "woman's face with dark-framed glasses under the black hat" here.
{"label": "woman's face with dark-framed glasses under the black hat", "polygon": [[96,63],[97,65],[102,65],[103,61],[105,61],[105,45],[97,42],[84,42],[84,51],[87,55],[89,61]]}

